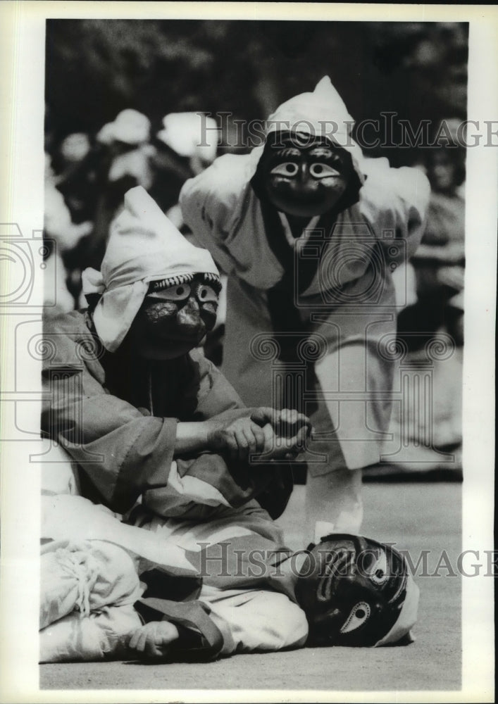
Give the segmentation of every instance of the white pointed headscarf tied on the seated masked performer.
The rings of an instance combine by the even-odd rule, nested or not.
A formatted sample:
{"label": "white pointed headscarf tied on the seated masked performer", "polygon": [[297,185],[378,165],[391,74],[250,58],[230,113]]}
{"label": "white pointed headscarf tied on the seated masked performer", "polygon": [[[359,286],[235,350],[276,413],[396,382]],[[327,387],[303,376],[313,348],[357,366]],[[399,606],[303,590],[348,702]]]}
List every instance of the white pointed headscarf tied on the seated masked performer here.
{"label": "white pointed headscarf tied on the seated masked performer", "polygon": [[101,270],[85,269],[83,293],[101,294],[93,313],[109,352],[125,338],[149,282],[218,270],[211,254],[190,244],[142,186],[125,194],[124,210],[111,223]]}

